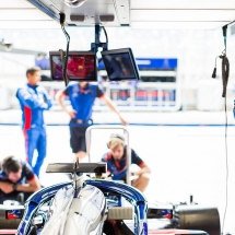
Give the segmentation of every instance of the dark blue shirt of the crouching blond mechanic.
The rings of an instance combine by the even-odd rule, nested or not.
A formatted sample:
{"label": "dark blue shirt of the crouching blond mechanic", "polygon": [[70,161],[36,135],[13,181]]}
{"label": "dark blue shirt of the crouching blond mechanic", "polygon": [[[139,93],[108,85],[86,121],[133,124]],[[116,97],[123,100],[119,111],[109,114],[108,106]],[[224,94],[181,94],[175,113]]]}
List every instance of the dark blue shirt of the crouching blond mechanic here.
{"label": "dark blue shirt of the crouching blond mechanic", "polygon": [[[126,180],[127,175],[127,166],[126,166],[126,156],[127,156],[127,146],[125,146],[125,153],[121,161],[116,162],[111,155],[111,153],[106,153],[102,157],[102,162],[107,163],[107,169],[111,173],[113,179],[122,179]],[[140,156],[136,153],[134,150],[131,149],[131,164],[136,164],[138,166],[143,166],[144,162],[140,158]]]}

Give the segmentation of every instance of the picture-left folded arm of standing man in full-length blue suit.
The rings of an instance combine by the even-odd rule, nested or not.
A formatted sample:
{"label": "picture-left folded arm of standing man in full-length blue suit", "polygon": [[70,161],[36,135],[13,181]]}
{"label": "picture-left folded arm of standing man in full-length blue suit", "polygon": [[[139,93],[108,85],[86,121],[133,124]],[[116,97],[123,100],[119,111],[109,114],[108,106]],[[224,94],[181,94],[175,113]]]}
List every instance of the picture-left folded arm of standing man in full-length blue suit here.
{"label": "picture-left folded arm of standing man in full-length blue suit", "polygon": [[48,105],[42,99],[38,99],[37,95],[33,95],[25,90],[19,90],[16,97],[27,107],[30,108],[48,108]]}

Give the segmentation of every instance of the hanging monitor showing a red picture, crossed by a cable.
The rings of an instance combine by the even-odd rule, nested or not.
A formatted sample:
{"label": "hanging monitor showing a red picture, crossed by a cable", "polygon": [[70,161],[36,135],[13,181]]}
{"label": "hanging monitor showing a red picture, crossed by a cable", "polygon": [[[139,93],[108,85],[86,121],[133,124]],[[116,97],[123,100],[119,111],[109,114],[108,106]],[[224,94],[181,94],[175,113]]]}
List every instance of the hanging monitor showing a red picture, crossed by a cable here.
{"label": "hanging monitor showing a red picture, crossed by a cable", "polygon": [[[59,51],[50,51],[52,81],[63,81],[62,62]],[[67,74],[69,81],[97,81],[96,55],[94,51],[69,51]]]}

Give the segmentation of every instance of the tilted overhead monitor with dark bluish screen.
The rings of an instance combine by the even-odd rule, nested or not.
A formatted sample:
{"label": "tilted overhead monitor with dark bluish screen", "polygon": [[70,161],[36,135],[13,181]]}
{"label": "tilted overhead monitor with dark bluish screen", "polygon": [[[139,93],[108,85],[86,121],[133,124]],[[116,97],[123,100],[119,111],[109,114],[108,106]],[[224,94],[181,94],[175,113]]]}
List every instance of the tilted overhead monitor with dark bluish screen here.
{"label": "tilted overhead monitor with dark bluish screen", "polygon": [[130,48],[103,50],[102,58],[109,81],[140,79],[138,67]]}

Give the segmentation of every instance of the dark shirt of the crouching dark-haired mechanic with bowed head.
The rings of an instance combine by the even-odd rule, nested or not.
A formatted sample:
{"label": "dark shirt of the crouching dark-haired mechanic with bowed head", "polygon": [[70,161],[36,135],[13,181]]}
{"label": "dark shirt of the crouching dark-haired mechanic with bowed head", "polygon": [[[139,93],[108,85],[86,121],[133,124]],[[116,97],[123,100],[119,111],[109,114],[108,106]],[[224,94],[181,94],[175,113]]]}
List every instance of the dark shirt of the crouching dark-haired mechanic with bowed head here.
{"label": "dark shirt of the crouching dark-haired mechanic with bowed head", "polygon": [[[22,173],[21,173],[21,178],[17,180],[16,184],[23,185],[26,181],[33,180],[35,175],[34,175],[32,167],[28,165],[28,163],[23,162],[23,161],[19,161],[19,162],[22,165]],[[8,179],[7,174],[2,169],[0,169],[0,181],[10,181]]]}

